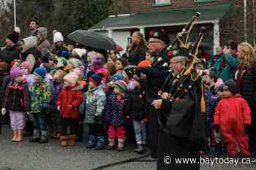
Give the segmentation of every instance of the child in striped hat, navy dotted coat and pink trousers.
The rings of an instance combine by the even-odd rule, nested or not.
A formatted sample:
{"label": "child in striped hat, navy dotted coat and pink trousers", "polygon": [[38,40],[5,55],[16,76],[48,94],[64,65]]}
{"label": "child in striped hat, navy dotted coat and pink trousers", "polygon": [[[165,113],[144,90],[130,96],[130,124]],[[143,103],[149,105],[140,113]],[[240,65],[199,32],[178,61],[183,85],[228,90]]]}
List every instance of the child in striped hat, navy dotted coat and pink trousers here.
{"label": "child in striped hat, navy dotted coat and pink trousers", "polygon": [[124,142],[126,139],[124,120],[125,120],[125,106],[127,104],[128,85],[123,80],[117,80],[110,84],[114,90],[107,98],[107,105],[105,109],[106,120],[110,123],[108,128],[108,150],[113,150],[118,139],[118,151],[124,150]]}

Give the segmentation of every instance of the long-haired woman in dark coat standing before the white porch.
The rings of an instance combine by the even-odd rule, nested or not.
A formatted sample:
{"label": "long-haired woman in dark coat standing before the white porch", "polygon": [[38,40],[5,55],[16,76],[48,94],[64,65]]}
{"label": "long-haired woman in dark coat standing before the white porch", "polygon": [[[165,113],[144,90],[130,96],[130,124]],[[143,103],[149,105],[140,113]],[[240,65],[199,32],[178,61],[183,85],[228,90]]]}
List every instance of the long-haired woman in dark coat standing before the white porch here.
{"label": "long-haired woman in dark coat standing before the white porch", "polygon": [[132,44],[128,49],[129,64],[137,66],[140,61],[145,60],[146,50],[147,46],[143,34],[135,31],[132,34]]}

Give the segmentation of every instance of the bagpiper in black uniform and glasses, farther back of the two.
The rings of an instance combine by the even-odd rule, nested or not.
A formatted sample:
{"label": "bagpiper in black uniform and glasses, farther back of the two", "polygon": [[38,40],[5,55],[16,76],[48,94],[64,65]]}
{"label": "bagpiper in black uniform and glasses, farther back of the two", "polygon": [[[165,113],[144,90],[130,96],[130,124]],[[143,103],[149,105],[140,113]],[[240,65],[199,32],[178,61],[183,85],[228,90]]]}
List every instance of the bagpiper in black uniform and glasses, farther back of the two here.
{"label": "bagpiper in black uniform and glasses, farther back of the two", "polygon": [[151,147],[151,157],[157,158],[158,143],[158,112],[151,106],[151,102],[155,99],[154,94],[158,92],[161,82],[165,80],[164,72],[168,69],[170,58],[167,55],[168,43],[167,36],[163,31],[150,31],[148,39],[148,50],[154,53],[154,62],[151,67],[140,69],[140,72],[146,74],[146,80],[141,80],[143,88],[147,89],[146,99],[148,101],[148,117],[149,117],[149,142]]}

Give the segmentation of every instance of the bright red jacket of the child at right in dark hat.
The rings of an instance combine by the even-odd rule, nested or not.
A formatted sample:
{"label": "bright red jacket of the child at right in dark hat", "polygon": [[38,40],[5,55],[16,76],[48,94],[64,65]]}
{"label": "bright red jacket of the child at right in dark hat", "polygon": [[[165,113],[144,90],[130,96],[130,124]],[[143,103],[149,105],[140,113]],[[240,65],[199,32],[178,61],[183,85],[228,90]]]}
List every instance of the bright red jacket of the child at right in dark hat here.
{"label": "bright red jacket of the child at right in dark hat", "polygon": [[240,95],[232,98],[222,98],[214,113],[214,125],[220,128],[244,128],[245,124],[251,125],[251,110],[247,102]]}

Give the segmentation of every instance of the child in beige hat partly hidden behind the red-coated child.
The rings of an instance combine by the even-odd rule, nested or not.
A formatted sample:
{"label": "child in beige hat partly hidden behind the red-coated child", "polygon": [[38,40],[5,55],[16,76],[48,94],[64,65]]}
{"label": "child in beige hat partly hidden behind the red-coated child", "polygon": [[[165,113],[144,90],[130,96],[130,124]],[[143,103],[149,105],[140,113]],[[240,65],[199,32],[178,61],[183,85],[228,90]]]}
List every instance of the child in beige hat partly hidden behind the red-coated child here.
{"label": "child in beige hat partly hidden behind the red-coated child", "polygon": [[60,116],[59,111],[57,110],[56,102],[61,93],[64,77],[67,75],[67,72],[59,69],[53,74],[53,80],[50,82],[50,117],[53,120],[52,132],[51,136],[54,139],[59,139],[60,136]]}

